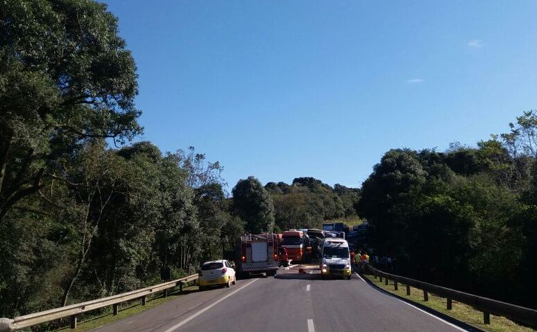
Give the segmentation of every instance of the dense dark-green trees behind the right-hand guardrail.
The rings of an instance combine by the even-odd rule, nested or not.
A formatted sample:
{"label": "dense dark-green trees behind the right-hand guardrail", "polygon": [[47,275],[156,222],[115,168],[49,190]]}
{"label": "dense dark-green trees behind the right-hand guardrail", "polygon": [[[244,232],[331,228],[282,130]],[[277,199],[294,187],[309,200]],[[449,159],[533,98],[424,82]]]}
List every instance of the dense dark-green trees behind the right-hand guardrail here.
{"label": "dense dark-green trees behind the right-hand guardrail", "polygon": [[524,306],[537,287],[537,117],[476,148],[386,152],[364,182],[359,213],[400,273]]}

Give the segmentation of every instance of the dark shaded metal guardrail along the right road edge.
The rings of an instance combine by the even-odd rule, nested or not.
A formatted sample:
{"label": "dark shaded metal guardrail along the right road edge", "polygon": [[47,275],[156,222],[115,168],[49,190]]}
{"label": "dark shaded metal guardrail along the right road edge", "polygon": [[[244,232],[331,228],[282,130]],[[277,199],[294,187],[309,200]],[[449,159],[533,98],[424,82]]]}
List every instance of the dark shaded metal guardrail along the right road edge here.
{"label": "dark shaded metal guardrail along the right road edge", "polygon": [[524,308],[521,306],[515,306],[511,303],[501,302],[493,299],[488,299],[486,297],[479,297],[474,294],[468,294],[465,292],[460,292],[458,290],[451,290],[450,288],[441,287],[433,285],[430,283],[423,283],[423,281],[405,278],[403,276],[396,276],[395,274],[389,274],[374,267],[367,266],[368,269],[373,272],[375,278],[382,277],[386,280],[386,285],[388,285],[388,280],[394,280],[394,288],[398,290],[398,282],[406,285],[407,295],[410,295],[410,287],[418,288],[423,290],[423,300],[428,301],[428,293],[439,295],[440,297],[445,297],[447,299],[447,310],[451,310],[452,301],[459,301],[465,303],[469,306],[472,306],[483,312],[483,322],[485,324],[490,324],[490,314],[505,316],[509,319],[513,319],[515,322],[522,322],[523,324],[528,324],[529,326],[537,326],[537,310]]}

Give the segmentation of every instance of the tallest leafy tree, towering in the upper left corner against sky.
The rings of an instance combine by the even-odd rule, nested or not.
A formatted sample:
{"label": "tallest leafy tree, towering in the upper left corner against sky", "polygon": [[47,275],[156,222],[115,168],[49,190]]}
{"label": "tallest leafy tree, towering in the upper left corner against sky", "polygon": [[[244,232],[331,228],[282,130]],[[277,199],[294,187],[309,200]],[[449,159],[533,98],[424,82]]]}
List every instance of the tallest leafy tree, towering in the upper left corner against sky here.
{"label": "tallest leafy tree, towering in the upper left corner against sky", "polygon": [[[141,132],[137,74],[116,17],[95,1],[0,7],[0,221],[89,139]],[[39,45],[39,47],[36,47]]]}

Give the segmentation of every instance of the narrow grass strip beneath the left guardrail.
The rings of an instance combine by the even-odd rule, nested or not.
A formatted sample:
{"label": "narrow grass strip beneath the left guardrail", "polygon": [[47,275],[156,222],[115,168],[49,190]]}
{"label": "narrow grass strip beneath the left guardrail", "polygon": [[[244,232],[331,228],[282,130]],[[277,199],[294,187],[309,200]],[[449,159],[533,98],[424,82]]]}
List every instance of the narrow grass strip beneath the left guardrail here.
{"label": "narrow grass strip beneath the left guardrail", "polygon": [[[197,289],[198,289],[198,286],[189,286],[189,287],[183,288],[184,291],[193,291]],[[113,315],[112,309],[109,308],[109,310],[105,311],[104,313],[100,313],[99,315],[93,315],[93,316],[83,317],[82,319],[79,319],[78,324],[77,324],[77,329],[72,330],[69,328],[69,326],[65,326],[61,329],[56,329],[56,330],[51,330],[51,331],[55,331],[55,332],[89,331],[91,329],[96,329],[99,326],[104,326],[104,325],[116,322],[120,319],[124,319],[132,315],[136,315],[137,313],[141,313],[151,308],[155,308],[157,306],[160,306],[162,303],[172,301],[174,299],[177,299],[180,296],[181,296],[181,293],[179,292],[179,290],[176,290],[173,293],[169,293],[168,297],[162,297],[162,295],[159,295],[152,299],[148,298],[145,306],[141,305],[141,300],[132,301],[130,303],[123,303],[123,306],[120,307],[120,309],[118,310],[118,315],[116,316]]]}

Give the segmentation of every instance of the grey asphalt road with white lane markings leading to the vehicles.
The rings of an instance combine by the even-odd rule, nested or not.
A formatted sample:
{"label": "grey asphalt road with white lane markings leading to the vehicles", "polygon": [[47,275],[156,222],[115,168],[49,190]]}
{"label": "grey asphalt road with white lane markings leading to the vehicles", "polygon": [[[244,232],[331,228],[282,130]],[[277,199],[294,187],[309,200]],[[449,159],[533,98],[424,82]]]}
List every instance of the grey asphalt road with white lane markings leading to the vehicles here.
{"label": "grey asphalt road with white lane markings leading to the vehicles", "polygon": [[279,274],[192,292],[93,332],[465,331],[375,290],[358,276]]}

